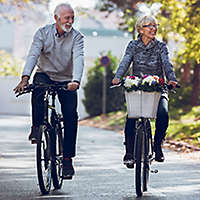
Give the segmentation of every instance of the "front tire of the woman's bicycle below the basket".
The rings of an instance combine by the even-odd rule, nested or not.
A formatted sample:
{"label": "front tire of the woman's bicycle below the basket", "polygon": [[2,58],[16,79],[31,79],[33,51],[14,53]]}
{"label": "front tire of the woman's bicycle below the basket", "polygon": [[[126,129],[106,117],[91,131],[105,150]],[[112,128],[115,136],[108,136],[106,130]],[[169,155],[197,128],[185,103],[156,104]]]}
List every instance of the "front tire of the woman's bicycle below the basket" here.
{"label": "front tire of the woman's bicycle below the basket", "polygon": [[136,128],[136,138],[135,138],[135,186],[136,186],[136,194],[138,197],[141,197],[143,194],[143,150],[144,150],[144,133],[141,125],[138,125],[139,128]]}

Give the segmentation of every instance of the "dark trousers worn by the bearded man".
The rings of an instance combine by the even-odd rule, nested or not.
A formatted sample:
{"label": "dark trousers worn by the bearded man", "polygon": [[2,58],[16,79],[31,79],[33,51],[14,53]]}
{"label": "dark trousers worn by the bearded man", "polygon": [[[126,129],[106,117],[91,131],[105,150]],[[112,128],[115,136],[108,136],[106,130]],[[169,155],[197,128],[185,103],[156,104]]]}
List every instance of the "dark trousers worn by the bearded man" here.
{"label": "dark trousers worn by the bearded man", "polygon": [[[36,73],[33,83],[55,84],[45,73]],[[67,84],[68,82],[59,82]],[[77,92],[58,91],[58,99],[64,118],[64,157],[74,157],[76,152],[76,137],[78,126]],[[32,94],[32,125],[40,126],[44,119],[44,93],[37,89]]]}

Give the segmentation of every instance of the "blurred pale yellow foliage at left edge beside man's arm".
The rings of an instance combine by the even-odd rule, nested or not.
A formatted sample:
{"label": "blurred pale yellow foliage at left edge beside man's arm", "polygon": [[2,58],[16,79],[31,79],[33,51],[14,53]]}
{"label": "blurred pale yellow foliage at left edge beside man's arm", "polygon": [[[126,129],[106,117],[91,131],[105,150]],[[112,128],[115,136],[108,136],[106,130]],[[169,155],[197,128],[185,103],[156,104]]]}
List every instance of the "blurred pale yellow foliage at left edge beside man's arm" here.
{"label": "blurred pale yellow foliage at left edge beside man's arm", "polygon": [[0,51],[0,76],[19,76],[22,66],[22,60],[14,58],[3,50]]}

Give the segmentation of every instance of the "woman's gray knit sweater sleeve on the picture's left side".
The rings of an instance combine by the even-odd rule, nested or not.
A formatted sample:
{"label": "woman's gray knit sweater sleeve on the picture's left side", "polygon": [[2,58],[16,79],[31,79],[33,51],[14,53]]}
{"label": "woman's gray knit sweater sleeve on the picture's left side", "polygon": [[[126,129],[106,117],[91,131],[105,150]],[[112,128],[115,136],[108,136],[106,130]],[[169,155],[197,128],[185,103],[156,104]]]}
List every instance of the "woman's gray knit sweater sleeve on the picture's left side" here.
{"label": "woman's gray knit sweater sleeve on the picture's left side", "polygon": [[133,59],[133,41],[129,42],[126,48],[122,61],[120,62],[119,67],[117,68],[115,78],[121,78],[127,72],[132,62],[132,59]]}

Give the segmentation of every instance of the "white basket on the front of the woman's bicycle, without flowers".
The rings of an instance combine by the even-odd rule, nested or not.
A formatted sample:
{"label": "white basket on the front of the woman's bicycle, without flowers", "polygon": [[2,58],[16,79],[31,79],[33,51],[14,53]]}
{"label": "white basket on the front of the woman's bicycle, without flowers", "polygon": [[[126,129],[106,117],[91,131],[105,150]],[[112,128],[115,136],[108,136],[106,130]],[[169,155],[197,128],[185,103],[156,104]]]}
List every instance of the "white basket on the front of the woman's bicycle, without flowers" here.
{"label": "white basket on the front of the woman's bicycle, without flowers", "polygon": [[128,118],[156,118],[160,96],[159,92],[125,91]]}

